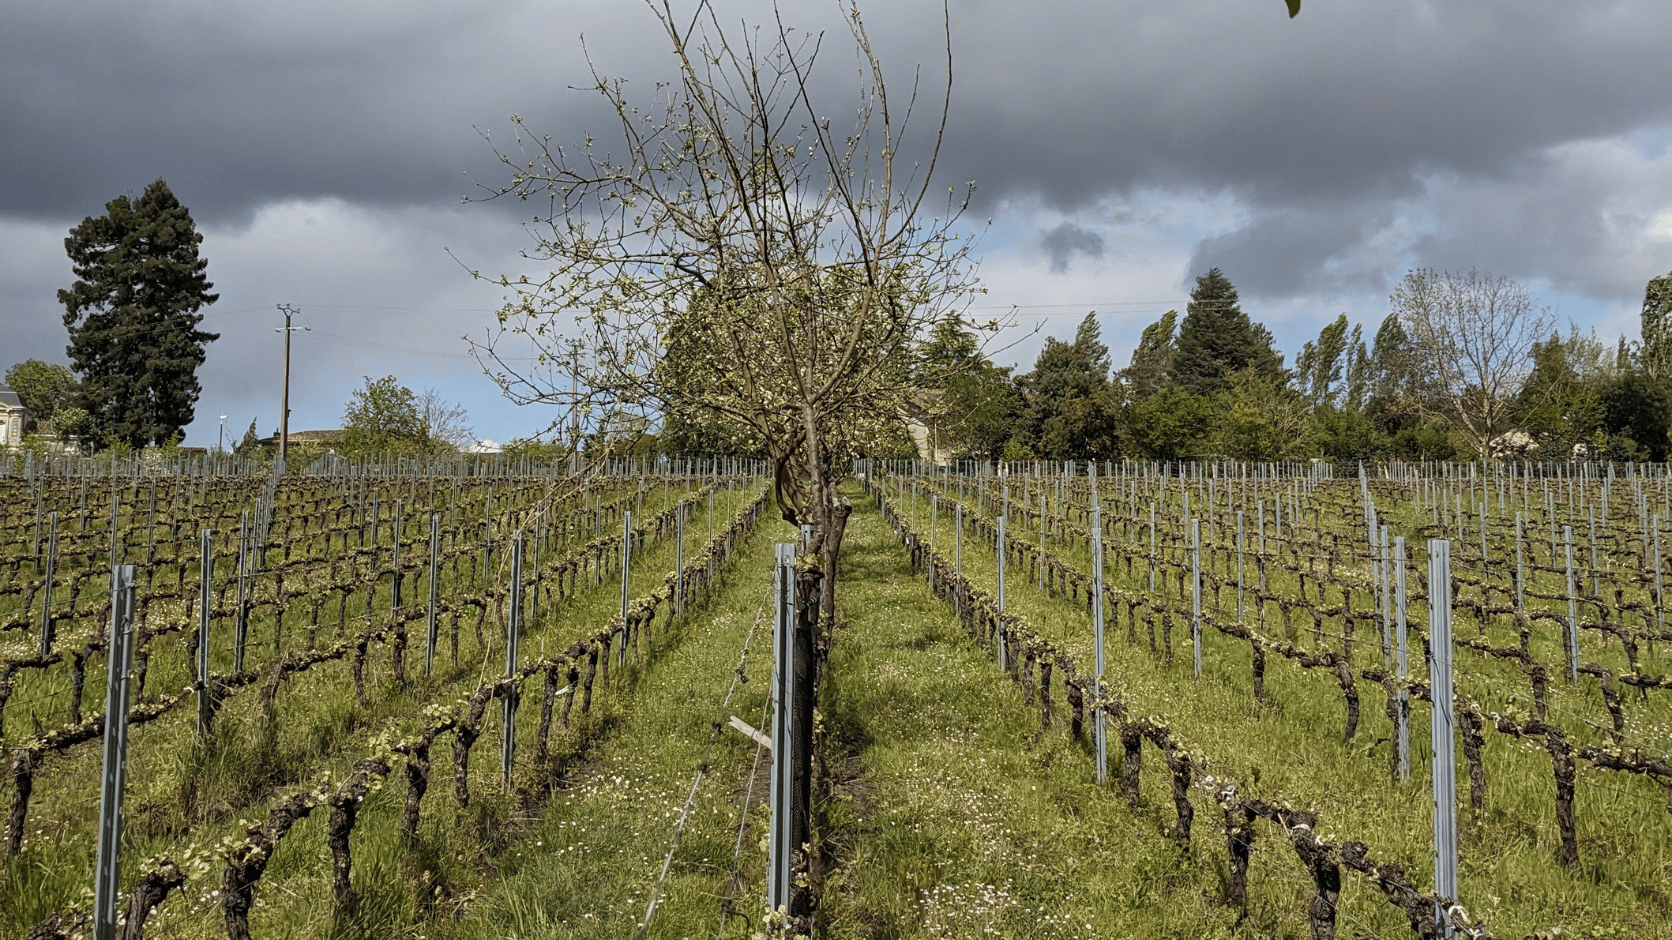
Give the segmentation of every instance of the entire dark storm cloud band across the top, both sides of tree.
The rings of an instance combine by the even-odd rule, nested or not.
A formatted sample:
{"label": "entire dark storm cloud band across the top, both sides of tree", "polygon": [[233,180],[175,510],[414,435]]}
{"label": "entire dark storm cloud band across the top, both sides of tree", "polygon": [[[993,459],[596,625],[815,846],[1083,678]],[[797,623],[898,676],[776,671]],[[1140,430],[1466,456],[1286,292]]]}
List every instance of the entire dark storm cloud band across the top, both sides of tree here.
{"label": "entire dark storm cloud band across the top, both sides of tree", "polygon": [[[833,3],[786,7],[841,28]],[[761,3],[721,8],[731,22]],[[925,99],[938,94],[938,3],[866,17],[896,94],[920,62]],[[515,110],[580,135],[595,115],[567,90],[587,77],[582,32],[605,72],[667,72],[665,38],[630,2],[12,3],[7,18],[5,212],[84,211],[155,176],[217,214],[456,197],[461,171],[492,171],[473,125]],[[1338,0],[1297,20],[1276,0],[965,0],[943,169],[1058,206],[1144,186],[1284,204],[1409,194],[1425,169],[1493,176],[1538,147],[1664,124],[1669,40],[1649,0]]]}

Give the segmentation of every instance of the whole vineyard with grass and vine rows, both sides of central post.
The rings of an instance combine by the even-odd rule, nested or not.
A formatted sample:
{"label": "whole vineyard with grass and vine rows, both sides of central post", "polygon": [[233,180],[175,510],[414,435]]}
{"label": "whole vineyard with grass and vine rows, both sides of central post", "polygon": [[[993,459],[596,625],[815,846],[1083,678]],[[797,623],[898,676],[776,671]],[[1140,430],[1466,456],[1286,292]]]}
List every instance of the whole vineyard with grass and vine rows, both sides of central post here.
{"label": "whole vineyard with grass and vine rows, both sides of central post", "polygon": [[[7,470],[0,933],[771,920],[761,467]],[[853,475],[823,935],[1672,935],[1662,468]]]}

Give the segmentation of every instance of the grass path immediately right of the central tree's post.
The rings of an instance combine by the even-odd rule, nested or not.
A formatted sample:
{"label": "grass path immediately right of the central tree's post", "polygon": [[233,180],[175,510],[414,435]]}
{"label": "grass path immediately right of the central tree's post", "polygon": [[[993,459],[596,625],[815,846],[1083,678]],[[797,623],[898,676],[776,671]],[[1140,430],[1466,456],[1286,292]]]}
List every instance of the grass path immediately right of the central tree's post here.
{"label": "grass path immediately right of the central tree's post", "polygon": [[[1232,935],[1214,871],[1165,838],[1170,813],[1097,788],[1060,691],[1042,729],[876,503],[854,503],[821,704],[829,746],[851,754],[828,808],[828,937]],[[1302,935],[1297,915],[1264,935]]]}

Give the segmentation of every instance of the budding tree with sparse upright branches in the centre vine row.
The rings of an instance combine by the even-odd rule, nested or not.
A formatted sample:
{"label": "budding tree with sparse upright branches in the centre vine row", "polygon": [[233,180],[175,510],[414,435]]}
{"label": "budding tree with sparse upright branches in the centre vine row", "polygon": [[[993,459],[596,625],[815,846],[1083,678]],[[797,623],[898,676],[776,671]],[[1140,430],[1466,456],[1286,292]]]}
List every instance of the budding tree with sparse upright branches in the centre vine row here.
{"label": "budding tree with sparse upright branches in the centre vine row", "polygon": [[[784,519],[813,527],[829,619],[843,468],[900,420],[918,338],[958,318],[975,288],[970,243],[953,231],[971,187],[948,187],[941,204],[931,182],[950,20],[945,95],[920,142],[906,127],[921,75],[905,102],[890,97],[856,7],[841,8],[856,102],[814,82],[823,33],[781,17],[729,32],[706,0],[684,13],[672,0],[647,7],[677,69],[655,100],[640,107],[594,70],[590,90],[615,115],[609,144],[589,135],[567,149],[513,119],[515,154],[497,149],[512,179],[492,197],[543,206],[525,227],[552,273],[500,279],[515,299],[477,351],[515,401],[677,408],[757,440]],[[844,100],[843,122],[816,100]],[[565,313],[573,331],[558,323]],[[533,368],[497,353],[507,335],[517,353],[533,345]]]}

